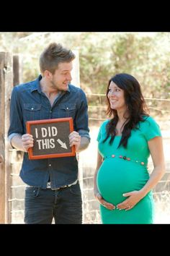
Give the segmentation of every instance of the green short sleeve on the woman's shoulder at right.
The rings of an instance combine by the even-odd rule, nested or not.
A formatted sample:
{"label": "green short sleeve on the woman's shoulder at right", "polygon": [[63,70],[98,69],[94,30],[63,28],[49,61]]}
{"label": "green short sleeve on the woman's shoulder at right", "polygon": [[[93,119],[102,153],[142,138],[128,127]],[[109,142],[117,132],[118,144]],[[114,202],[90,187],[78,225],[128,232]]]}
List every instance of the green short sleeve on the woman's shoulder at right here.
{"label": "green short sleeve on the woman's shoulder at right", "polygon": [[143,122],[143,133],[147,141],[154,137],[161,137],[161,129],[151,116]]}

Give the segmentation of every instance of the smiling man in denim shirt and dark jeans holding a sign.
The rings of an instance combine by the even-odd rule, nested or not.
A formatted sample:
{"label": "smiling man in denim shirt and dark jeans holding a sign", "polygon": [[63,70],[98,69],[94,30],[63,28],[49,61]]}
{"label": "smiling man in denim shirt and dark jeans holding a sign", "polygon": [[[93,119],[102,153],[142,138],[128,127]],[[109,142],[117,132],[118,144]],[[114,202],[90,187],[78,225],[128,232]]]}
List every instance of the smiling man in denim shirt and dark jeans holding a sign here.
{"label": "smiling man in denim shirt and dark jeans holding a sign", "polygon": [[86,95],[69,84],[75,55],[61,44],[50,43],[40,55],[37,80],[17,85],[12,91],[9,140],[13,148],[24,151],[20,177],[25,189],[25,223],[81,223],[82,200],[76,156],[29,160],[32,135],[26,121],[73,118],[70,146],[76,152],[89,145]]}

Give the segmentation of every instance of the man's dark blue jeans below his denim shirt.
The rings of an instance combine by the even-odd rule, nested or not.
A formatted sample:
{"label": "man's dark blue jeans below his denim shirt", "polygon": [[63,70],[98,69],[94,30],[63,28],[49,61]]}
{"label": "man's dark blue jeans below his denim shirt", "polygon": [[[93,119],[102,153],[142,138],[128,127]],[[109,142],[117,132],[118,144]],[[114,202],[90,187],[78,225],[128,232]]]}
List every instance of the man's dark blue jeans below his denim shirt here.
{"label": "man's dark blue jeans below his denim shirt", "polygon": [[24,223],[82,223],[82,200],[79,182],[61,189],[26,187]]}

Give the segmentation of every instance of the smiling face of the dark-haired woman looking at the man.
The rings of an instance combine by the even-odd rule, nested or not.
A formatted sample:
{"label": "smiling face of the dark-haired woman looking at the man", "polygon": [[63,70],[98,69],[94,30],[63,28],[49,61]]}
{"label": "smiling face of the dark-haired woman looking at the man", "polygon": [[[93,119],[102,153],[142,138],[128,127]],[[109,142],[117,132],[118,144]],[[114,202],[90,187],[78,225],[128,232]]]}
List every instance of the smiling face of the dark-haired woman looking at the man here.
{"label": "smiling face of the dark-haired woman looking at the man", "polygon": [[110,108],[117,111],[126,110],[124,90],[120,89],[115,82],[110,82],[107,97],[109,98]]}

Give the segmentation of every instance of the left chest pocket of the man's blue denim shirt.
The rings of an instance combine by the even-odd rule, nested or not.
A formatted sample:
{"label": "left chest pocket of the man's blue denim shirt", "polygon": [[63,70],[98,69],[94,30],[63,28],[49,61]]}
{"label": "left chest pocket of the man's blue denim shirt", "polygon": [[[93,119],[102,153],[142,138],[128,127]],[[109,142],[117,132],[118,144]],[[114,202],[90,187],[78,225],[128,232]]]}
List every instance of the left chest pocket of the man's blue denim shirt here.
{"label": "left chest pocket of the man's blue denim shirt", "polygon": [[24,103],[24,119],[26,121],[42,119],[41,104]]}

